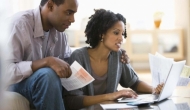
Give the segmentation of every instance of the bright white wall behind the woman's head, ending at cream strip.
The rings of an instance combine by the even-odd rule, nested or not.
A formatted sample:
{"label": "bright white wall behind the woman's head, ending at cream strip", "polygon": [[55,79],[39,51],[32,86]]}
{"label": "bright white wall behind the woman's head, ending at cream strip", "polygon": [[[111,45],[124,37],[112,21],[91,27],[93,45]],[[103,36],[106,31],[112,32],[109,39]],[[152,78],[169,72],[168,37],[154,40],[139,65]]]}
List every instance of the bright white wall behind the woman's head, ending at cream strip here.
{"label": "bright white wall behind the woman's head, ending at cream strip", "polygon": [[[104,8],[115,13],[123,14],[131,28],[153,28],[153,14],[164,12],[161,27],[174,26],[173,0],[78,0],[79,8],[75,16],[75,23],[69,29],[81,29],[82,19],[94,13],[93,9]],[[87,19],[88,20],[88,19]]]}

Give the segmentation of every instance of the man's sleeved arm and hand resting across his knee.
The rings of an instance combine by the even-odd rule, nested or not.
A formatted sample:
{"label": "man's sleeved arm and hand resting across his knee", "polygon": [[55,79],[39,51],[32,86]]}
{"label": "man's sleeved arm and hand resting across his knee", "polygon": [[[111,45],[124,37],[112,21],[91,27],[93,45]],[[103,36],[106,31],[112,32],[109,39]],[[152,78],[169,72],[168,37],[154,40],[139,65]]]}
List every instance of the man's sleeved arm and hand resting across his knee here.
{"label": "man's sleeved arm and hand resting across his knee", "polygon": [[8,46],[10,46],[10,50],[7,54],[11,56],[7,59],[8,65],[5,75],[9,84],[22,81],[42,67],[52,68],[59,77],[69,77],[71,75],[69,64],[61,59],[47,57],[32,61],[32,59],[30,59],[31,56],[26,56],[30,55],[30,53],[25,53],[32,51],[29,48],[31,47],[31,39],[29,37],[30,29],[28,29],[27,24],[22,22],[20,24],[12,23],[10,25],[11,28],[8,29]]}

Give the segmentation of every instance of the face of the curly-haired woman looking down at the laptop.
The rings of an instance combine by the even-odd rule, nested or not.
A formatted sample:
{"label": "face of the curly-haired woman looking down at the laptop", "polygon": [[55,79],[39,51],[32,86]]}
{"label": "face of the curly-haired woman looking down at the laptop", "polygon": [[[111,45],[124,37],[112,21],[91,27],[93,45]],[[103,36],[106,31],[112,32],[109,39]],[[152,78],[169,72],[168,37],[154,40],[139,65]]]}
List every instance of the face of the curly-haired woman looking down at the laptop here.
{"label": "face of the curly-haired woman looking down at the laptop", "polygon": [[119,51],[121,44],[123,43],[125,25],[122,21],[115,23],[113,27],[108,29],[106,34],[103,34],[103,44],[111,51]]}

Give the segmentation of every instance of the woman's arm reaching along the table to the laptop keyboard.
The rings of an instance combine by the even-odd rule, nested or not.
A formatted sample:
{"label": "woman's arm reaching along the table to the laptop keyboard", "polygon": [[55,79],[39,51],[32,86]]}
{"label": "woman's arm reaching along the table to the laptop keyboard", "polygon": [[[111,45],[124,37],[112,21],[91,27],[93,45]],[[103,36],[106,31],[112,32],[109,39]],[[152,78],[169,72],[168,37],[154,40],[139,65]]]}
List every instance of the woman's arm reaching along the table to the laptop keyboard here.
{"label": "woman's arm reaching along the table to the laptop keyboard", "polygon": [[[82,90],[64,91],[64,102],[67,109],[81,109],[87,106],[95,105],[104,101],[114,101],[121,97],[137,97],[137,94],[130,89],[120,90],[114,93],[102,95],[87,96]],[[74,105],[74,106],[73,106]]]}

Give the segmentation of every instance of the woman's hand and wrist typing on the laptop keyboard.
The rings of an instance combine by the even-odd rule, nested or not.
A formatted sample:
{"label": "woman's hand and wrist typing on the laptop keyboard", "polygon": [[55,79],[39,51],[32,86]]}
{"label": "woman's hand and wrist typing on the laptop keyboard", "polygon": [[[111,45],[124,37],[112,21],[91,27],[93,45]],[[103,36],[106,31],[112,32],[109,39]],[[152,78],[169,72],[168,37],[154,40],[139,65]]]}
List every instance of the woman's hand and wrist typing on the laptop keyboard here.
{"label": "woman's hand and wrist typing on the laptop keyboard", "polygon": [[107,94],[107,96],[110,101],[113,101],[122,97],[136,98],[137,93],[131,89],[124,89],[114,93]]}

